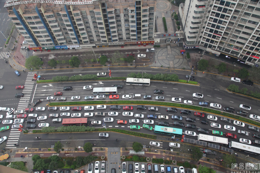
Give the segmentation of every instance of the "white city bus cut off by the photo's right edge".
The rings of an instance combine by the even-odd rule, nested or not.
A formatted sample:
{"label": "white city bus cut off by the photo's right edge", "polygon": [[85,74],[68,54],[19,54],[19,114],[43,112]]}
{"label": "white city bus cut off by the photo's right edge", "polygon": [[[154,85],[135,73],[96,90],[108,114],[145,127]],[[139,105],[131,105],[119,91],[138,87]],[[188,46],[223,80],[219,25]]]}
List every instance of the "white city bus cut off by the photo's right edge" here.
{"label": "white city bus cut off by the photo's right edge", "polygon": [[244,151],[246,153],[252,153],[255,155],[260,155],[260,148],[253,146],[253,145],[247,145],[247,144],[242,144],[240,142],[234,142],[230,141],[229,142],[229,148],[233,150],[238,150],[238,151]]}

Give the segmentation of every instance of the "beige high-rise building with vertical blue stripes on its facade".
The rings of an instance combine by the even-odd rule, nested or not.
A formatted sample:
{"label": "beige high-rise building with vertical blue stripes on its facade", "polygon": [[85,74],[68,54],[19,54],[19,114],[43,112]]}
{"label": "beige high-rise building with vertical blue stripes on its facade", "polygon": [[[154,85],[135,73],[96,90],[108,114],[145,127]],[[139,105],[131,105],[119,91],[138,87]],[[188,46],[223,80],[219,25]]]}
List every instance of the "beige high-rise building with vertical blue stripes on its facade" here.
{"label": "beige high-rise building with vertical blue stripes on its facade", "polygon": [[152,43],[155,4],[154,0],[7,0],[4,7],[30,47],[66,49]]}

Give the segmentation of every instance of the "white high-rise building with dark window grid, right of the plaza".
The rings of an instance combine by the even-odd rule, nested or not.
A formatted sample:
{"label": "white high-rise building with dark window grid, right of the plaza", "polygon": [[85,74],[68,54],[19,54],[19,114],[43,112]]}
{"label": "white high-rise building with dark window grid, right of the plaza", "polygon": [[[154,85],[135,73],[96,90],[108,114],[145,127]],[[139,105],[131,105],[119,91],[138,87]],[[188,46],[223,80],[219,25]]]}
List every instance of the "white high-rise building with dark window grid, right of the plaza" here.
{"label": "white high-rise building with dark window grid, right of the plaza", "polygon": [[179,7],[185,48],[260,64],[259,0],[186,0]]}

